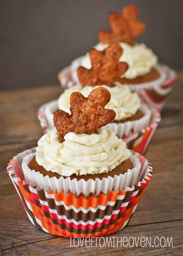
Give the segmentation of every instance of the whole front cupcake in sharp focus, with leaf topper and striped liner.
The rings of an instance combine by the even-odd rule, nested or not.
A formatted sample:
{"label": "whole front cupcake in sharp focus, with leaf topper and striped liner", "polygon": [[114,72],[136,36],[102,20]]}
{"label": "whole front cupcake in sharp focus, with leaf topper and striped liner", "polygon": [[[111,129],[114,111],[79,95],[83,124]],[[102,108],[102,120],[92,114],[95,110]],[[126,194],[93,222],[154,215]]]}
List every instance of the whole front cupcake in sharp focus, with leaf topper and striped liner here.
{"label": "whole front cupcake in sharp focus, with leaf topper and striped liner", "polygon": [[123,228],[151,176],[145,158],[126,148],[111,129],[116,113],[104,107],[106,88],[85,98],[71,95],[71,114],[54,114],[50,132],[36,149],[8,165],[29,220],[41,230],[65,237],[92,237]]}

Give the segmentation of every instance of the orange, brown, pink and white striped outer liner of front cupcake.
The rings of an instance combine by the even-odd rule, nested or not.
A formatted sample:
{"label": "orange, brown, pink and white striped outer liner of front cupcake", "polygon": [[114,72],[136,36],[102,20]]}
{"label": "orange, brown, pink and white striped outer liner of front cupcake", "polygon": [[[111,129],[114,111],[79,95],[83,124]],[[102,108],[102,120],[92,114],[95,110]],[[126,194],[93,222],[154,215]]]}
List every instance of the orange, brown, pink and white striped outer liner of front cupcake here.
{"label": "orange, brown, pink and white striped outer liner of front cupcake", "polygon": [[8,175],[32,224],[54,235],[81,238],[103,236],[124,228],[152,177],[148,161],[133,153],[141,165],[137,185],[127,187],[125,191],[109,190],[107,194],[54,193],[53,190],[32,186],[17,175],[23,176],[23,158],[35,153],[35,150],[26,150],[15,156],[8,164]]}

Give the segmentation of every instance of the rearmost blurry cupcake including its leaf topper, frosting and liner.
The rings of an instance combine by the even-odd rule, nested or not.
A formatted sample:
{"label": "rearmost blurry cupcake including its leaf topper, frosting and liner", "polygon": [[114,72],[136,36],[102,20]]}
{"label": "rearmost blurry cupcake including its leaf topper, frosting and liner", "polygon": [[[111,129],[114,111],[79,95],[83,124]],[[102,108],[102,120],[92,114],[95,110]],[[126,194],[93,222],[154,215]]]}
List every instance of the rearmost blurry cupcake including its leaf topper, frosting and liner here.
{"label": "rearmost blurry cupcake including its leaf topper, frosting and liner", "polygon": [[[144,103],[162,109],[165,99],[172,90],[170,85],[175,82],[177,76],[169,67],[158,64],[157,56],[145,44],[133,41],[145,30],[144,23],[137,20],[138,13],[138,8],[134,5],[127,5],[121,14],[111,13],[111,31],[100,31],[100,42],[94,48],[103,51],[110,44],[119,43],[123,48],[119,62],[126,62],[129,68],[114,81],[128,84]],[[58,78],[64,88],[78,83],[76,70],[80,65],[90,70],[92,65],[89,53],[73,61],[70,67],[59,74]]]}

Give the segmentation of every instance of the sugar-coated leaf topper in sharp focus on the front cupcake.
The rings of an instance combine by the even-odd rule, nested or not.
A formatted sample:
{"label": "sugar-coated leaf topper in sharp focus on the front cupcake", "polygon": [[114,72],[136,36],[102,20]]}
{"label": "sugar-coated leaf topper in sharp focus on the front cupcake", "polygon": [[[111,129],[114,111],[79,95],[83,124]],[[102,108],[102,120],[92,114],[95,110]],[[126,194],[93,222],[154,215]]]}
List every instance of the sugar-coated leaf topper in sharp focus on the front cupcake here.
{"label": "sugar-coated leaf topper in sharp focus on the front cupcake", "polygon": [[93,90],[87,98],[74,92],[70,96],[71,114],[58,110],[54,114],[54,125],[62,140],[68,132],[93,134],[98,128],[113,121],[116,112],[104,107],[110,101],[110,92],[103,87]]}

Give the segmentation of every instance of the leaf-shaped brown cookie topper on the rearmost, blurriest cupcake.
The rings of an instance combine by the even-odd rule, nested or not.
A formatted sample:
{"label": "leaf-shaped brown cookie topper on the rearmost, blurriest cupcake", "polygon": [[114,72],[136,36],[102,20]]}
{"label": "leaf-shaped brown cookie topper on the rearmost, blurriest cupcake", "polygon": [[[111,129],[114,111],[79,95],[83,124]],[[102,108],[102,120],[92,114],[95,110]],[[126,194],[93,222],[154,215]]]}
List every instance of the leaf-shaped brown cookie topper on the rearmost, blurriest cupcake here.
{"label": "leaf-shaped brown cookie topper on the rearmost, blurriest cupcake", "polygon": [[127,5],[119,13],[109,15],[111,32],[101,30],[98,39],[102,44],[125,42],[134,45],[134,37],[139,36],[145,30],[144,23],[137,20],[139,9],[135,5]]}

